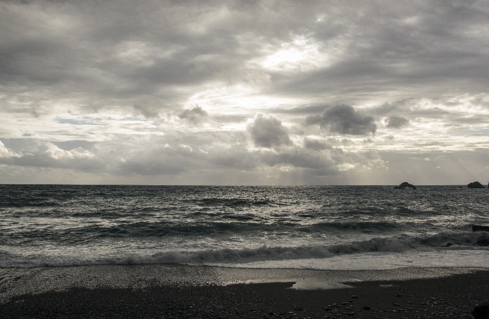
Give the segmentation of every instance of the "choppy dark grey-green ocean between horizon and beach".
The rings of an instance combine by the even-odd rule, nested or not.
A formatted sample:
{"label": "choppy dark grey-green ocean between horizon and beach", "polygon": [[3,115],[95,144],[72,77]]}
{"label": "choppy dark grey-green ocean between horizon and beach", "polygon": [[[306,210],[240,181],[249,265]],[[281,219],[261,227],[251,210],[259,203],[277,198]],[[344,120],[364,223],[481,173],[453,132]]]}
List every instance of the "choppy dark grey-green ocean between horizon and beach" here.
{"label": "choppy dark grey-green ocean between horizon and beach", "polygon": [[[0,185],[0,267],[489,268],[466,186]],[[451,245],[448,245],[451,243]]]}

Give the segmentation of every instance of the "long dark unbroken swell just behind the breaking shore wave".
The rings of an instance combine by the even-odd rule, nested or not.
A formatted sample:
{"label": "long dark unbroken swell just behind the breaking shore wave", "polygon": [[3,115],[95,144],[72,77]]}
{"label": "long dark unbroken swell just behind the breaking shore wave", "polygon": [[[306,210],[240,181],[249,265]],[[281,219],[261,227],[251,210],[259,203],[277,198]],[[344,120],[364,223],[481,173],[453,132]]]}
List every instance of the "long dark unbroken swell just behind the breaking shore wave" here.
{"label": "long dark unbroken swell just behind the breaking shore wave", "polygon": [[[402,228],[396,222],[324,222],[310,225],[301,225],[300,221],[293,222],[286,219],[280,222],[263,223],[259,216],[253,214],[227,214],[214,213],[221,221],[201,221],[181,223],[178,221],[137,221],[118,222],[112,225],[96,223],[82,227],[66,228],[37,228],[12,229],[8,237],[0,239],[0,244],[17,240],[41,240],[60,242],[96,241],[106,238],[161,238],[161,237],[187,237],[219,234],[244,234],[250,232],[288,233],[290,236],[300,233],[337,233],[347,231],[360,231],[363,233],[386,232]],[[148,214],[145,214],[148,215]]]}

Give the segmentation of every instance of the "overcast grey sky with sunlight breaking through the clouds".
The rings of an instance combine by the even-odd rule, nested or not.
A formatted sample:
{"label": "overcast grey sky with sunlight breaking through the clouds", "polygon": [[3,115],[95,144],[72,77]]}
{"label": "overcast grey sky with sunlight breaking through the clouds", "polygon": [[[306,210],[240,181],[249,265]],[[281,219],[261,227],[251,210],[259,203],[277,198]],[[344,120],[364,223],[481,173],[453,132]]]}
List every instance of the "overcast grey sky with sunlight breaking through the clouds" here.
{"label": "overcast grey sky with sunlight breaking through the clouds", "polygon": [[489,181],[489,2],[0,0],[0,183]]}

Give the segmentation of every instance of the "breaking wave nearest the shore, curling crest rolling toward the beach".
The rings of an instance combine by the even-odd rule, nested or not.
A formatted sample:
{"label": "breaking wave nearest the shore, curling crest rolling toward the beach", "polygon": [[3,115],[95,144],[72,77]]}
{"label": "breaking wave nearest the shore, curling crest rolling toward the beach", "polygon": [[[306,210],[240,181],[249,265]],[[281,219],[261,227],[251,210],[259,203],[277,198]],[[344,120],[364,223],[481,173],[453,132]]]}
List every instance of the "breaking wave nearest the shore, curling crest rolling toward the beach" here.
{"label": "breaking wave nearest the shore, curling crest rolling toward the beach", "polygon": [[[266,260],[290,260],[305,258],[328,258],[345,254],[365,252],[402,252],[415,249],[473,249],[481,238],[489,239],[489,232],[440,233],[426,237],[376,237],[365,241],[352,241],[333,245],[261,246],[243,249],[205,249],[196,251],[162,251],[150,255],[126,255],[117,257],[76,256],[55,260],[49,256],[20,256],[0,252],[0,268],[80,265],[139,265],[139,264],[187,264],[211,265],[252,263]],[[443,247],[448,242],[450,247]],[[119,252],[121,254],[121,252]]]}

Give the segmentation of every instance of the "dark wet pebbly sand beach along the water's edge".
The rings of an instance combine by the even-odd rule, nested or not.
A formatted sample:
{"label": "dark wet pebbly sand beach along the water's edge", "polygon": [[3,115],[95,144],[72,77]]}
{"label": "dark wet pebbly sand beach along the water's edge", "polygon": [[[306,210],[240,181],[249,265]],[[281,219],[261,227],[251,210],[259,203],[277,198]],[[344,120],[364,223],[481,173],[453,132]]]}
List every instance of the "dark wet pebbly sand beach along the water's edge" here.
{"label": "dark wet pebbly sand beach along the water's edge", "polygon": [[[0,273],[1,318],[470,318],[475,305],[489,300],[489,271],[482,269],[97,266]],[[273,279],[266,274],[303,280],[316,276],[328,284],[326,289],[295,289],[287,281],[229,282],[232,276],[237,282]],[[392,279],[396,276],[403,280]],[[355,281],[338,282],[345,278]]]}

